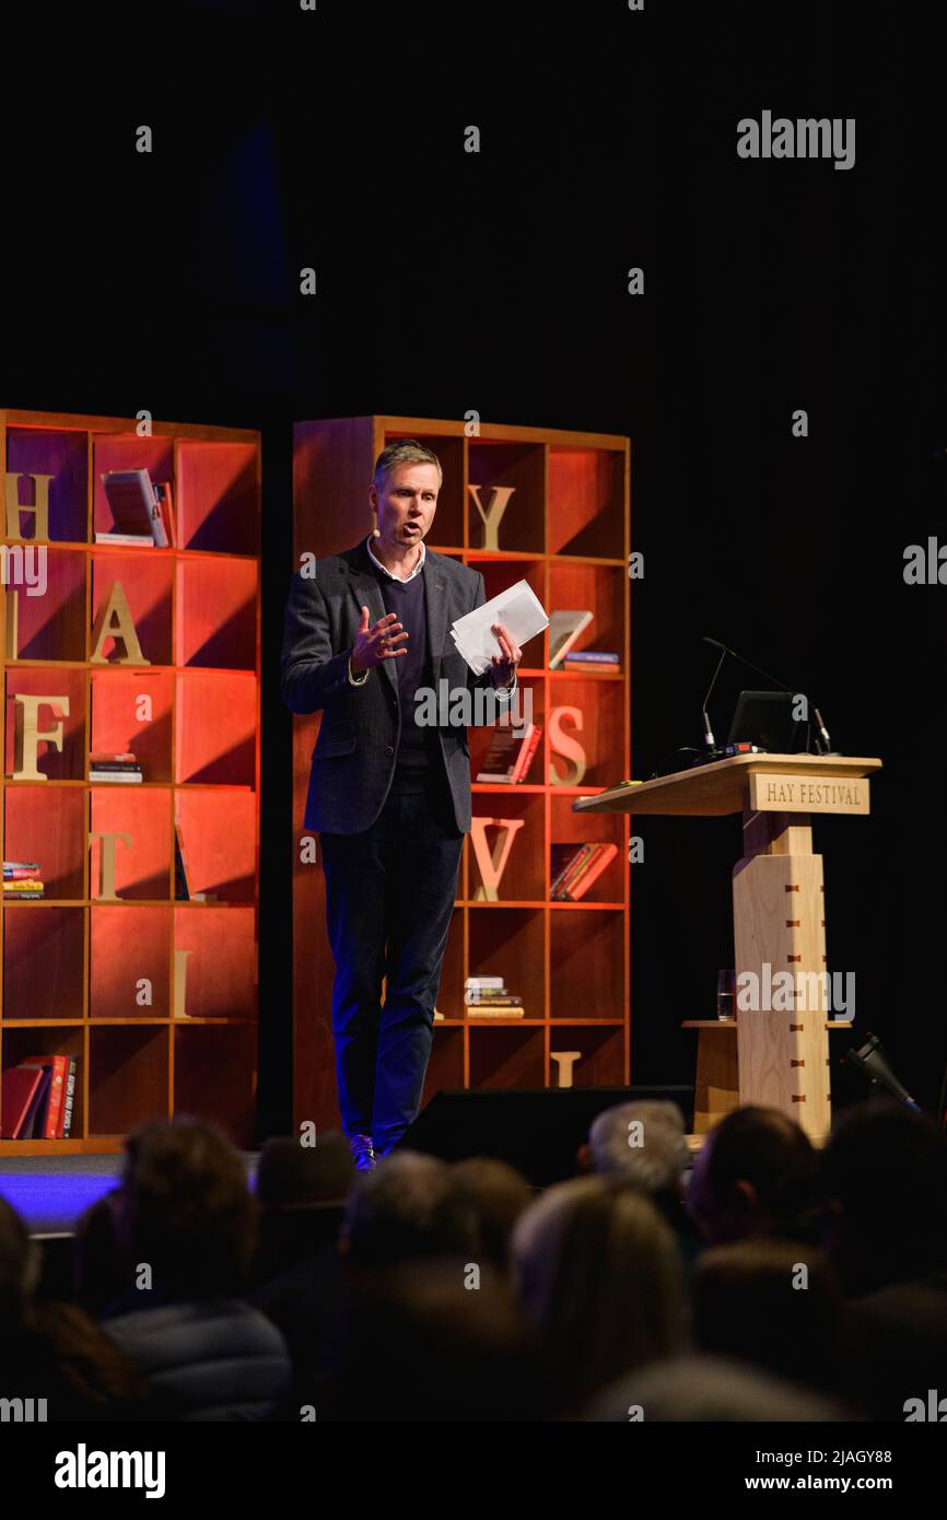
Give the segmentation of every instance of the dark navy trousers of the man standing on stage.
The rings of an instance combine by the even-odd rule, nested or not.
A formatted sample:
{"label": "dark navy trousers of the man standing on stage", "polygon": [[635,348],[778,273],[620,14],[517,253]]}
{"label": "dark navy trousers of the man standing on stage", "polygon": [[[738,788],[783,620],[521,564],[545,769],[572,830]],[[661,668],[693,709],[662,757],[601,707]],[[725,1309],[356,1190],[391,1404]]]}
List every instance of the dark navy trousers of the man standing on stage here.
{"label": "dark navy trousers of the man standing on stage", "polygon": [[342,1128],[385,1155],[421,1107],[464,834],[438,781],[321,841]]}

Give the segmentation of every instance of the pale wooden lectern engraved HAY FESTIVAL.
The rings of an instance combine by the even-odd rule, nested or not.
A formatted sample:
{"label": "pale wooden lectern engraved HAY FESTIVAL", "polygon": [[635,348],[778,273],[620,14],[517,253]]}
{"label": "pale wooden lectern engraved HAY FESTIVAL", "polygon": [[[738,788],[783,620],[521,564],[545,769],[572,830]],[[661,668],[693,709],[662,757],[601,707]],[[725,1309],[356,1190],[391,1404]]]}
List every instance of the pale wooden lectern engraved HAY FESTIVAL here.
{"label": "pale wooden lectern engraved HAY FESTIVAL", "polygon": [[[813,1140],[828,1134],[827,1031],[848,1024],[827,1018],[822,857],[812,853],[812,815],[868,813],[868,777],[880,768],[848,755],[731,755],[573,804],[576,813],[743,815],[743,854],[733,869],[736,1018],[687,1021],[701,1031],[696,1132],[737,1104],[763,1104],[790,1114]],[[743,1009],[740,986],[754,985],[740,983],[748,971],[763,996]],[[786,976],[772,996],[777,973],[793,973],[787,996],[778,991]]]}

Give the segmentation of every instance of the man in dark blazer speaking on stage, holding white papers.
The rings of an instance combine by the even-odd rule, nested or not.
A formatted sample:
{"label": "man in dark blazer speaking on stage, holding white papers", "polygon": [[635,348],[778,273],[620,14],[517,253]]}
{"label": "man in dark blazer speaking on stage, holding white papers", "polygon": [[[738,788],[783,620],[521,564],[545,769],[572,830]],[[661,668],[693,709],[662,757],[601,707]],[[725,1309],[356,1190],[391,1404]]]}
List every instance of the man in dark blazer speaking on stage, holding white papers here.
{"label": "man in dark blazer speaking on stage, holding white papers", "polygon": [[477,676],[450,637],[486,594],[477,570],[424,544],[441,482],[430,448],[389,444],[368,488],[377,529],[312,575],[296,572],[286,606],[283,701],[293,713],[322,708],[306,828],[322,842],[339,1108],[360,1170],[421,1107],[470,830],[467,727],[442,710],[436,725],[415,716],[442,681],[451,713],[454,693],[474,687],[491,687],[506,711],[521,658],[496,623],[499,652]]}

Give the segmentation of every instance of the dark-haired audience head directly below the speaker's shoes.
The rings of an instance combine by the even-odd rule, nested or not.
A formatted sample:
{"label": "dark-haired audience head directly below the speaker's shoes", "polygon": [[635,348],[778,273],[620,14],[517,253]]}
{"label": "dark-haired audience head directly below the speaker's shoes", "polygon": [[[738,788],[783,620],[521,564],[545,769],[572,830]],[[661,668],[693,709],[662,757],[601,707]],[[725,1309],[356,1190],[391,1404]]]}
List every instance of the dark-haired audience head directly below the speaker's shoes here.
{"label": "dark-haired audience head directly below the speaker's shoes", "polygon": [[371,1172],[357,1173],[340,1243],[356,1269],[426,1256],[470,1260],[477,1243],[474,1210],[444,1161],[395,1151]]}

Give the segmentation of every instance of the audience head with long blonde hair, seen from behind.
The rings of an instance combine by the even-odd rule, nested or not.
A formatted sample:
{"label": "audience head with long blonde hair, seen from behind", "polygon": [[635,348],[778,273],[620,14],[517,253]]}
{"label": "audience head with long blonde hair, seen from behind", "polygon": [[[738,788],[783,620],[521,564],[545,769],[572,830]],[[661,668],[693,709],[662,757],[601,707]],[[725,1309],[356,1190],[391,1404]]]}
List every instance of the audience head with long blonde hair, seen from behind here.
{"label": "audience head with long blonde hair, seen from behind", "polygon": [[637,1189],[610,1178],[550,1187],[518,1221],[523,1306],[562,1406],[678,1345],[683,1272],[670,1228]]}

